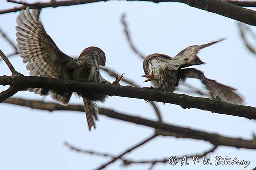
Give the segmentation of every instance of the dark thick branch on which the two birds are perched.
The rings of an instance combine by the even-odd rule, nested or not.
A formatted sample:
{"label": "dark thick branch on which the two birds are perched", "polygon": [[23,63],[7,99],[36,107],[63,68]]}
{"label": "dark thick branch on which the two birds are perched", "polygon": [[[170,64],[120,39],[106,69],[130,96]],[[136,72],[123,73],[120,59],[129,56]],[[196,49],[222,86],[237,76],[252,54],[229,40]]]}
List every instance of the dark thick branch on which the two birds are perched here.
{"label": "dark thick branch on which the two birds are perched", "polygon": [[97,93],[108,96],[122,96],[148,101],[171,103],[182,108],[198,108],[214,113],[256,119],[256,108],[244,105],[233,105],[203,97],[192,97],[186,94],[175,94],[150,88],[135,88],[131,86],[105,85],[91,82],[78,82],[64,79],[46,77],[30,77],[23,75],[0,77],[0,85],[17,85],[20,89],[46,88],[58,91],[79,93]]}

